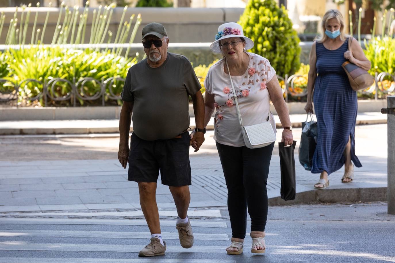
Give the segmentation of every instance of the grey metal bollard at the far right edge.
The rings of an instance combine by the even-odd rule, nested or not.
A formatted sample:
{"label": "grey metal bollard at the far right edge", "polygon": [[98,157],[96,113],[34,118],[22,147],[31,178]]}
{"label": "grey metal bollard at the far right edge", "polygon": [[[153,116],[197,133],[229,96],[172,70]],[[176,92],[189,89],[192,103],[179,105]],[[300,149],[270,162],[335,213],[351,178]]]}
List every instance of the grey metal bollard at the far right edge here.
{"label": "grey metal bollard at the far right edge", "polygon": [[387,114],[387,200],[388,214],[395,214],[395,96],[387,97],[387,109],[381,109]]}

